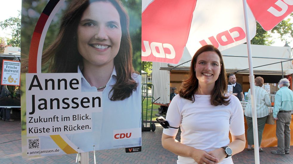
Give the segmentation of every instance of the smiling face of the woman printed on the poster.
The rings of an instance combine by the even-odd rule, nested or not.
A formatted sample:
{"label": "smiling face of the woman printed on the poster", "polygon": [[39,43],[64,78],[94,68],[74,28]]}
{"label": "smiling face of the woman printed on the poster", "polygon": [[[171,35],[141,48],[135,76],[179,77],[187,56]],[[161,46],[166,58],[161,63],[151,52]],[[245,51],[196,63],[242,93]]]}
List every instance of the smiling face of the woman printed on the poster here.
{"label": "smiling face of the woman printed on the poster", "polygon": [[77,27],[77,49],[84,65],[114,64],[121,35],[117,9],[110,2],[92,2]]}

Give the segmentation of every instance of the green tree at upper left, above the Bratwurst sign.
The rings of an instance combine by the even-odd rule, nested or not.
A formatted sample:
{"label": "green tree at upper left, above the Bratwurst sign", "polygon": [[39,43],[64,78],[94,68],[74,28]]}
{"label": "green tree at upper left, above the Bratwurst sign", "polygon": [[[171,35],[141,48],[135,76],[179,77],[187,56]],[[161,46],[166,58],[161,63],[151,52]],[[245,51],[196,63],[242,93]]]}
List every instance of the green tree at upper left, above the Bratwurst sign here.
{"label": "green tree at upper left, above the Bratwurst sign", "polygon": [[13,47],[20,47],[20,38],[21,38],[21,12],[18,11],[18,17],[10,17],[2,22],[0,22],[0,27],[2,29],[11,29],[12,39],[7,39],[7,45]]}

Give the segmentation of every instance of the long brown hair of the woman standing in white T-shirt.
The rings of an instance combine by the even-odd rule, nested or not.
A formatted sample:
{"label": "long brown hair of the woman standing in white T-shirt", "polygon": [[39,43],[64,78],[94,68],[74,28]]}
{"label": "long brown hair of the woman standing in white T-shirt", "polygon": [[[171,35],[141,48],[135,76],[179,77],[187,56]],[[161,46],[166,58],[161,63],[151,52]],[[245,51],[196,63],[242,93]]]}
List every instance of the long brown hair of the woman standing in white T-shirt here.
{"label": "long brown hair of the woman standing in white T-shirt", "polygon": [[220,57],[220,64],[221,64],[221,72],[218,79],[215,82],[215,87],[212,90],[210,103],[211,105],[214,105],[214,106],[228,105],[230,100],[227,100],[228,96],[225,96],[225,94],[227,93],[228,82],[227,82],[227,76],[226,76],[226,71],[224,67],[224,61],[223,61],[221,52],[213,45],[205,45],[196,51],[196,53],[194,54],[191,60],[189,78],[182,82],[182,85],[179,90],[179,95],[180,97],[183,97],[192,102],[195,101],[194,94],[198,90],[199,81],[196,78],[196,73],[194,71],[194,68],[195,68],[196,60],[198,56],[202,52],[206,52],[206,51],[216,52],[218,56]]}

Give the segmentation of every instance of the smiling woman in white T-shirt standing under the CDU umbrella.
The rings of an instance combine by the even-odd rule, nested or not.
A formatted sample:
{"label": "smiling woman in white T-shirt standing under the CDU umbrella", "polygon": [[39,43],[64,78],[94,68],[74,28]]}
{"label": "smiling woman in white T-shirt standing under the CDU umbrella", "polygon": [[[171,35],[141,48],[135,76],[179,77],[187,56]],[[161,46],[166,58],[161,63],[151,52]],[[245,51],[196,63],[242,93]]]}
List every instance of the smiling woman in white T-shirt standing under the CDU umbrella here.
{"label": "smiling woman in white T-shirt standing under the CDU umbrella", "polygon": [[193,56],[190,77],[182,83],[166,116],[170,126],[180,126],[181,142],[175,139],[178,129],[163,130],[162,145],[179,155],[177,163],[232,164],[231,154],[244,149],[242,106],[226,92],[220,51],[213,45],[201,47]]}

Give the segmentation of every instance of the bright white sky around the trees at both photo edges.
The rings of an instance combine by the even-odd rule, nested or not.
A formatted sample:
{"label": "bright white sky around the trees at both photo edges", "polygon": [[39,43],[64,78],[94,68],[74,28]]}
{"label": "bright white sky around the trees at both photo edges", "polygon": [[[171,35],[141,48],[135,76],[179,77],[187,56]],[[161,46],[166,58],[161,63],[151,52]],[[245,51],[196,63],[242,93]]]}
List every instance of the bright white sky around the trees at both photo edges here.
{"label": "bright white sky around the trees at both photo edges", "polygon": [[[17,17],[18,10],[21,10],[21,0],[1,0],[1,8],[0,8],[0,21],[8,19],[10,17]],[[293,19],[291,20],[293,22]],[[9,37],[9,30],[2,30],[0,29],[0,37]],[[285,41],[281,41],[278,38],[278,34],[272,34],[273,40],[275,41],[272,46],[284,46]],[[293,38],[287,37],[286,38],[291,47],[293,47]]]}

